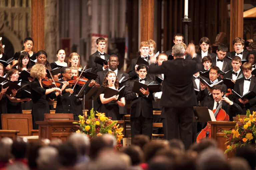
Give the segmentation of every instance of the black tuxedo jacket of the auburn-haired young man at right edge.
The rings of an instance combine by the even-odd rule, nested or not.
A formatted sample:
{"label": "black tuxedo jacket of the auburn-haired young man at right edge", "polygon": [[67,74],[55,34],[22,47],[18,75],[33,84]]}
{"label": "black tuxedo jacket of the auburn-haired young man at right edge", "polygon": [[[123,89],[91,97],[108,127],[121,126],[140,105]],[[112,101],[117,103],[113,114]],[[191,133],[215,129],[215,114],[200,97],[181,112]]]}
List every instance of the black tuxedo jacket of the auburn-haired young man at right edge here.
{"label": "black tuxedo jacket of the auburn-haired young man at right edge", "polygon": [[[239,95],[243,95],[244,91],[244,78],[236,80],[234,91],[236,91]],[[254,91],[256,93],[256,78],[252,76],[249,91]],[[241,104],[238,99],[240,98],[237,94],[233,93],[234,102],[238,103],[242,108],[245,106],[246,108],[250,109],[251,113],[252,111],[256,110],[256,96],[249,99],[249,103]]]}

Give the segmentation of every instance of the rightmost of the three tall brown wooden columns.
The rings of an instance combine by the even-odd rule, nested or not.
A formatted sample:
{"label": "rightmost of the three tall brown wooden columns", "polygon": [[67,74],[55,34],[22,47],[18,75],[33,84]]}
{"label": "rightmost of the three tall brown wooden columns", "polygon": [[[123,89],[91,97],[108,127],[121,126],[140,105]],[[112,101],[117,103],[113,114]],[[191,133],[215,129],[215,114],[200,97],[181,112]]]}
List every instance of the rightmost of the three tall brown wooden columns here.
{"label": "rightmost of the three tall brown wooden columns", "polygon": [[230,51],[233,49],[233,40],[236,37],[243,38],[244,28],[244,0],[230,1]]}

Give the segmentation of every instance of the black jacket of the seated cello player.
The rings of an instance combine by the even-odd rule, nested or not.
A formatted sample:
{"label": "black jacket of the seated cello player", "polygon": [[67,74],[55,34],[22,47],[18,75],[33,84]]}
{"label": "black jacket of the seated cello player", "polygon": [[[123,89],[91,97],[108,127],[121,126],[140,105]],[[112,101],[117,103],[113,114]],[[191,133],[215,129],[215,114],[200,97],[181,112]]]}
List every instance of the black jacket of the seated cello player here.
{"label": "black jacket of the seated cello player", "polygon": [[[208,107],[208,109],[213,110],[214,100],[207,101],[203,104],[204,107]],[[235,102],[232,105],[229,105],[227,102],[223,101],[221,108],[225,110],[225,112],[229,115],[229,120],[233,121],[233,116],[242,113],[242,108]]]}

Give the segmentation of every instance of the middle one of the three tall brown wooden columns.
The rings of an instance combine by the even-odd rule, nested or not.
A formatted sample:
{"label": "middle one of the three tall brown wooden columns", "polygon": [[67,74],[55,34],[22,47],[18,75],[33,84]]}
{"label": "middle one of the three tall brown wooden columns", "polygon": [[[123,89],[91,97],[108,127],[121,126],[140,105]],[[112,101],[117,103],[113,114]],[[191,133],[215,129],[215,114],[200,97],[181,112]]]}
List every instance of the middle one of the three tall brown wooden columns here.
{"label": "middle one of the three tall brown wooden columns", "polygon": [[154,0],[141,0],[140,40],[153,39],[154,33]]}

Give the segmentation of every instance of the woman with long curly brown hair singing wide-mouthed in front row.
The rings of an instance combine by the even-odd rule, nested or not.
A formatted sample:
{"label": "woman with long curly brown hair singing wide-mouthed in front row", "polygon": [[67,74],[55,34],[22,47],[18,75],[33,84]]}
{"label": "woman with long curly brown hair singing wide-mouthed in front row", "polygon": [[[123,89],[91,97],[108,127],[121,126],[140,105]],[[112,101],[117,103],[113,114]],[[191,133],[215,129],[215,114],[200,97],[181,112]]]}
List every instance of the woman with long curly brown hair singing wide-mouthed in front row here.
{"label": "woman with long curly brown hair singing wide-mouthed in front row", "polygon": [[[105,79],[102,83],[104,87],[109,87],[113,88],[115,90],[118,89],[118,80],[116,77],[115,72],[113,71],[108,71],[106,73]],[[106,113],[107,117],[111,117],[112,120],[120,120],[120,114],[119,114],[119,106],[125,106],[125,99],[122,97],[120,100],[117,100],[119,95],[114,95],[109,98],[104,98],[104,94],[100,94],[100,101],[101,101],[101,106],[100,106],[100,112]]]}

